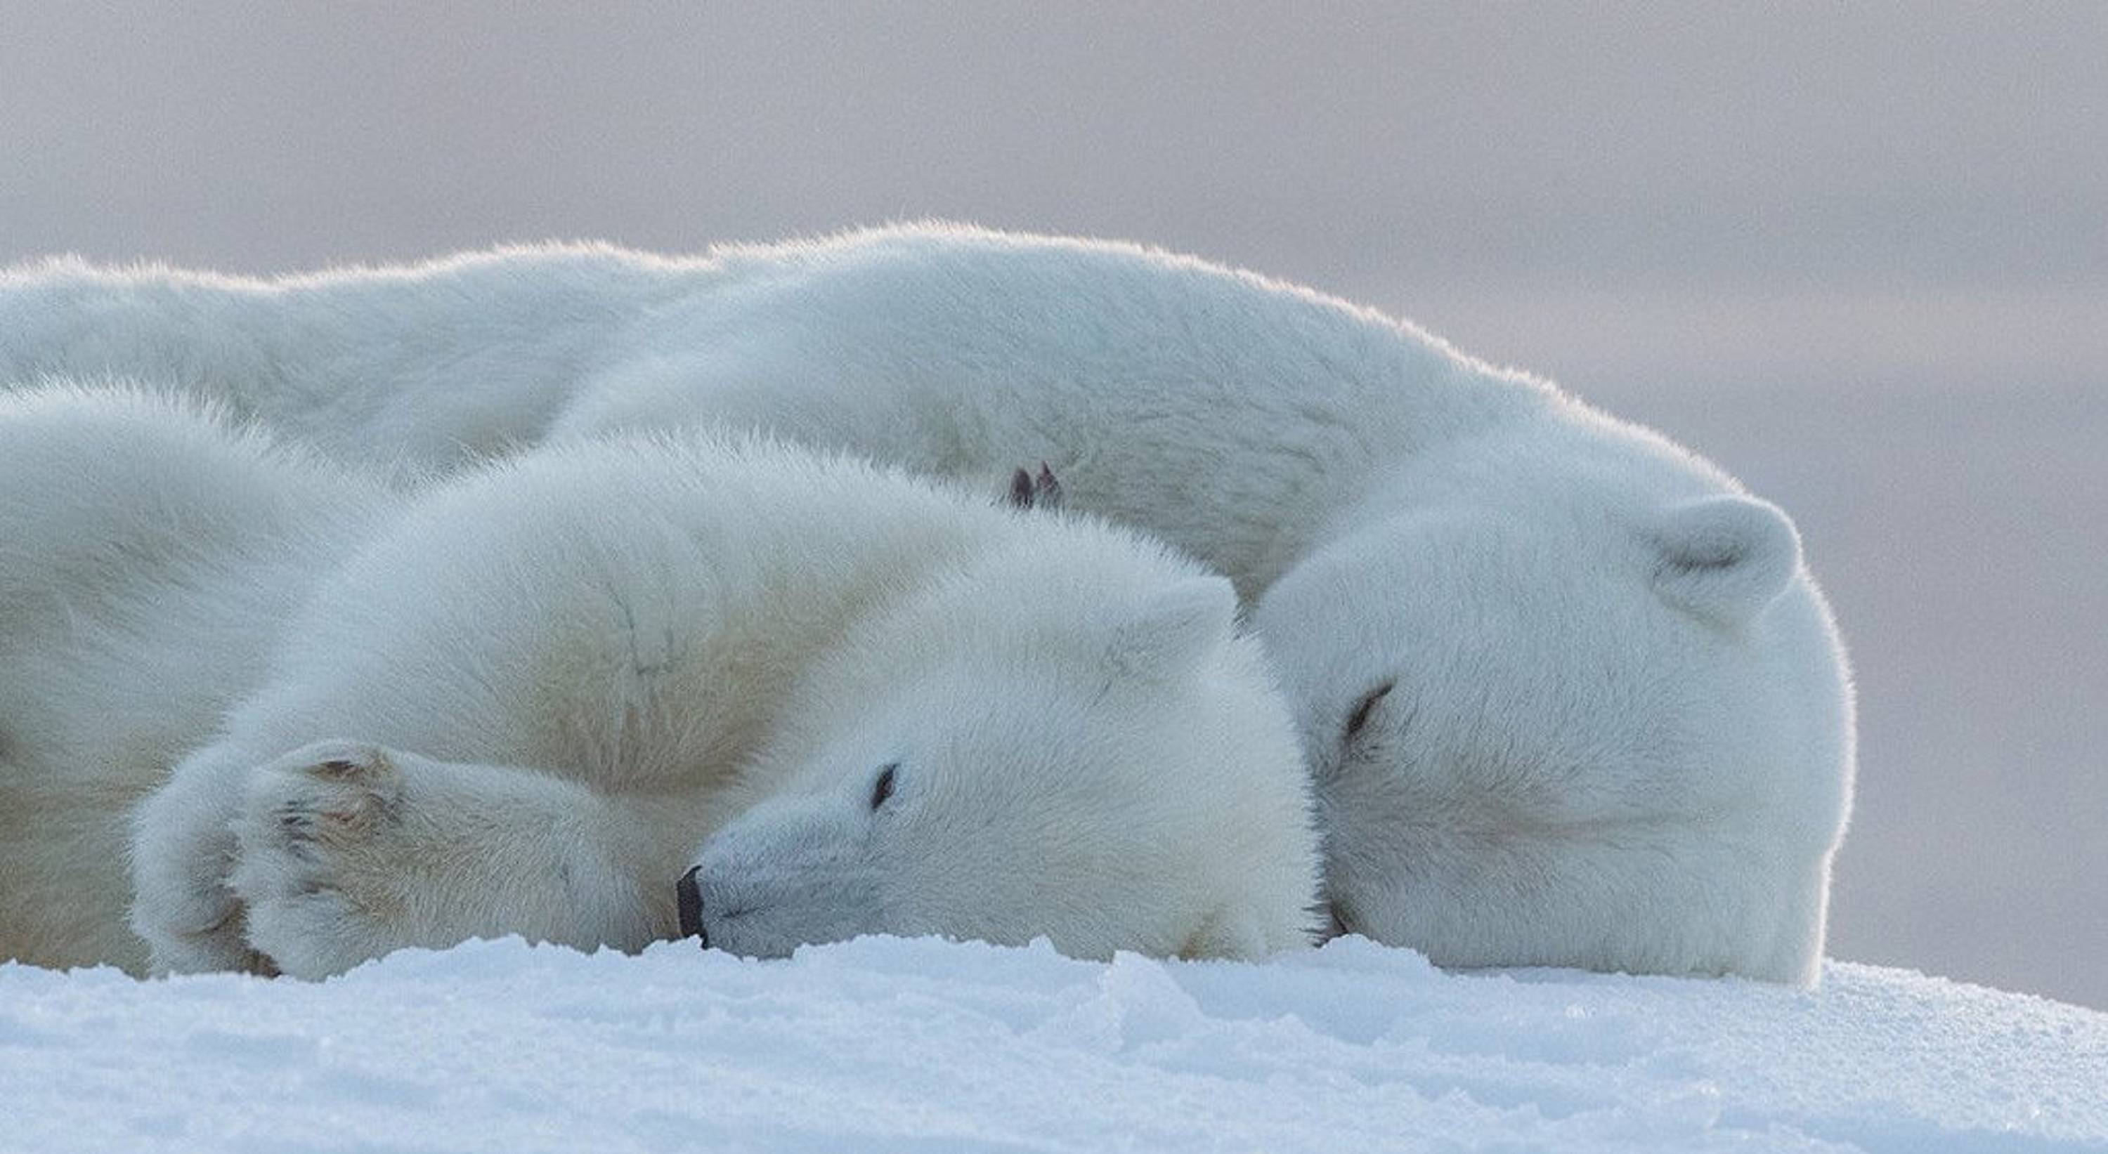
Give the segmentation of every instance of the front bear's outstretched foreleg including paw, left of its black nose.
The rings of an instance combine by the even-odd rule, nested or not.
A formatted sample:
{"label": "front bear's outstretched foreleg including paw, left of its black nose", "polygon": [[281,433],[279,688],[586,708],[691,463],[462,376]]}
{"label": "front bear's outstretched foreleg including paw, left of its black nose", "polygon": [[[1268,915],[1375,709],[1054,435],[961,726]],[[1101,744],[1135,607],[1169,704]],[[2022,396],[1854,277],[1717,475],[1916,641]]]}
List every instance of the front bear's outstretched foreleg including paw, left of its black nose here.
{"label": "front bear's outstretched foreleg including paw, left of its black nose", "polygon": [[677,922],[649,828],[546,773],[325,741],[249,777],[230,889],[295,977],[508,933],[641,950]]}

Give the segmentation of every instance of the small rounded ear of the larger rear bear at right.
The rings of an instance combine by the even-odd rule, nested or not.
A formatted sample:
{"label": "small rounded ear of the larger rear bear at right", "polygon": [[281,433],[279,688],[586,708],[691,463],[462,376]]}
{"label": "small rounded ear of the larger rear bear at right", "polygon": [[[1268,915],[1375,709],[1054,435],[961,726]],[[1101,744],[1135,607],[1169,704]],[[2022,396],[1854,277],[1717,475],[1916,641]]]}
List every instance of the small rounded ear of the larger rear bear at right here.
{"label": "small rounded ear of the larger rear bear at right", "polygon": [[1726,625],[1756,619],[1800,569],[1800,535],[1756,497],[1703,497],[1670,508],[1655,526],[1655,592]]}

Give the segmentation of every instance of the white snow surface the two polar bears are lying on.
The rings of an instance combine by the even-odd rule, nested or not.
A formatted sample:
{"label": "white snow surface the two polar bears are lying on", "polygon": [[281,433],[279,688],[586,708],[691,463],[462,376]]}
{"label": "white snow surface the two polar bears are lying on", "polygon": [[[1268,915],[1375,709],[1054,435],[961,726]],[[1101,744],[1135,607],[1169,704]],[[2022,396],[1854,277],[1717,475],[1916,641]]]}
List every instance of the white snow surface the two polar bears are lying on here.
{"label": "white snow surface the two polar bears are lying on", "polygon": [[1813,992],[1444,973],[1360,937],[4,964],[0,1150],[2108,1150],[2108,1015],[1842,962]]}

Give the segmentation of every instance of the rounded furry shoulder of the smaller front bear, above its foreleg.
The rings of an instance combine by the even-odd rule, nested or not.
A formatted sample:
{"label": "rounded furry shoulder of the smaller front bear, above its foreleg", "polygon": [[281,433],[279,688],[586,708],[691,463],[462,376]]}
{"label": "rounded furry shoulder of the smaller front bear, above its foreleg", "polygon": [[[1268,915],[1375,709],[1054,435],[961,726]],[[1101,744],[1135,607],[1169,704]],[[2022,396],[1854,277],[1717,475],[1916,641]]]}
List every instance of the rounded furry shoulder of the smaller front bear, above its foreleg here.
{"label": "rounded furry shoulder of the smaller front bear, above its foreleg", "polygon": [[729,767],[856,617],[1018,533],[993,501],[761,442],[533,453],[346,558],[257,724],[616,788]]}

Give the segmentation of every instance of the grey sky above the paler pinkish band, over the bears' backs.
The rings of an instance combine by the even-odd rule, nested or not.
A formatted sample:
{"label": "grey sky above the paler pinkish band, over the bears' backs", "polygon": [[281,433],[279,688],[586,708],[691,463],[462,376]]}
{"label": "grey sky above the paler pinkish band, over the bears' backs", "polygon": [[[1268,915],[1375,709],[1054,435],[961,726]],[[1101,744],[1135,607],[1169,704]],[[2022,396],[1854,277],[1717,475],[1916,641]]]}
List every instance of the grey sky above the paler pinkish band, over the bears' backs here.
{"label": "grey sky above the paler pinkish band, over the bears' backs", "polygon": [[268,270],[953,215],[1362,295],[2108,276],[2102,4],[0,15],[6,255]]}

